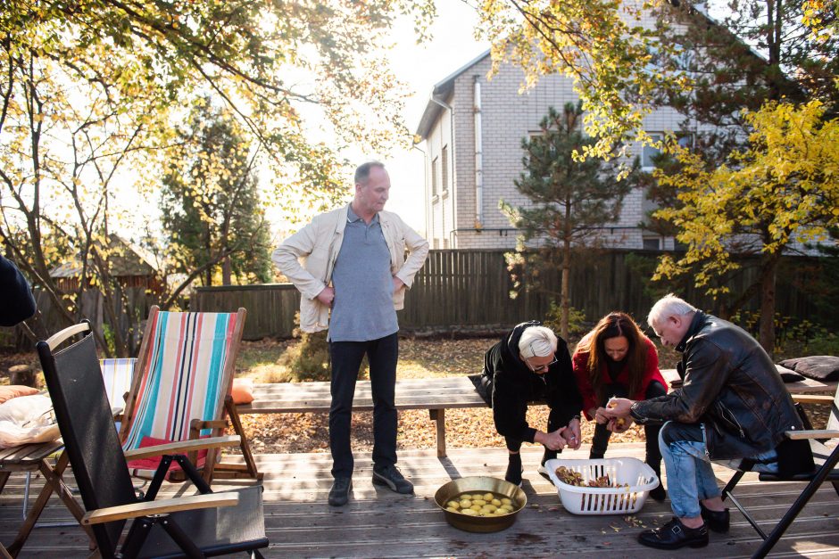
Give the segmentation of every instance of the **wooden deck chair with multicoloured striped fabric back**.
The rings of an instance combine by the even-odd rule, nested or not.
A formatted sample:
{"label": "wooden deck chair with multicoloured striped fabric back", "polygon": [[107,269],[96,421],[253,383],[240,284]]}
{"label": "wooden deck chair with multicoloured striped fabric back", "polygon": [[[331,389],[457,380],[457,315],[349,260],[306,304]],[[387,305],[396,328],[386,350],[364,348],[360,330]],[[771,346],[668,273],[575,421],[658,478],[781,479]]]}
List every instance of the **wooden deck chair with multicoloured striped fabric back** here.
{"label": "wooden deck chair with multicoloured striped fabric back", "polygon": [[[165,312],[151,308],[137,357],[137,373],[129,392],[120,427],[125,450],[168,442],[220,436],[225,411],[241,436],[245,464],[217,464],[211,448],[189,456],[203,470],[260,478],[245,433],[230,398],[245,309],[237,313]],[[129,462],[136,475],[154,472],[159,457]],[[170,472],[176,472],[174,465]],[[177,477],[177,473],[175,476]]]}

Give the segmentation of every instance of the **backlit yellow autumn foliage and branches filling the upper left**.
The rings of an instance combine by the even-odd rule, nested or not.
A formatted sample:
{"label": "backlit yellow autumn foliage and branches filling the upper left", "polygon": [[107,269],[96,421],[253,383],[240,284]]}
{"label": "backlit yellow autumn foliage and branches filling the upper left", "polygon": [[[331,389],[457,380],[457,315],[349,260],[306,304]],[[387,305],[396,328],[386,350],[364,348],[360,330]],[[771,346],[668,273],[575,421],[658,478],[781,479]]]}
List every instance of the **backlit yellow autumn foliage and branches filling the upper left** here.
{"label": "backlit yellow autumn foliage and branches filling the upper left", "polygon": [[[126,301],[112,275],[110,235],[116,224],[139,230],[154,221],[154,204],[137,208],[138,194],[154,200],[159,169],[178,159],[175,125],[206,95],[263,154],[270,199],[297,215],[320,210],[343,193],[337,152],[348,144],[386,152],[409,137],[403,86],[378,48],[388,44],[398,12],[412,13],[421,34],[434,7],[430,0],[5,2],[0,241],[66,324],[82,317],[89,289],[104,294],[105,313],[113,314]],[[331,128],[328,145],[307,137],[308,115]],[[136,174],[132,185],[126,177]],[[63,262],[78,269],[73,292],[50,277]],[[240,275],[264,272],[230,266]],[[120,324],[117,316],[105,320]],[[46,329],[35,326],[43,339]],[[129,339],[120,329],[114,336],[126,353]]]}

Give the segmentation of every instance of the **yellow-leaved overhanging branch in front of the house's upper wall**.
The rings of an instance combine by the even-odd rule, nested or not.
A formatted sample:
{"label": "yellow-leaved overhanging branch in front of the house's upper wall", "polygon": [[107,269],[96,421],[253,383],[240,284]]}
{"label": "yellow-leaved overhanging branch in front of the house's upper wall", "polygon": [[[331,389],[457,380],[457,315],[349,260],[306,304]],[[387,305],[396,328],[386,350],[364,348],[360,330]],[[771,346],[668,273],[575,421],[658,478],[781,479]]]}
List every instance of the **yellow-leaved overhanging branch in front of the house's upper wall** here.
{"label": "yellow-leaved overhanging branch in front of the house's upper wall", "polygon": [[[478,34],[492,42],[493,71],[511,62],[525,72],[522,88],[540,76],[563,74],[586,111],[586,132],[575,157],[622,155],[627,140],[649,141],[644,117],[661,91],[686,90],[684,72],[661,71],[655,53],[677,45],[644,25],[652,3],[614,0],[483,0]],[[617,151],[616,151],[616,148]]]}

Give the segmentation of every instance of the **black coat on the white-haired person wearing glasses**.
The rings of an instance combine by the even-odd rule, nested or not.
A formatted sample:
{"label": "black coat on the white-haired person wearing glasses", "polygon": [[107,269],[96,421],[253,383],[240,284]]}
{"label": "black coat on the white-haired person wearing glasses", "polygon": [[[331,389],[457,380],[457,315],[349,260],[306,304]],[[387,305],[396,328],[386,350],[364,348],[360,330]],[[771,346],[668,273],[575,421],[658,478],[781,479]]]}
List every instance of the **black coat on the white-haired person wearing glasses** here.
{"label": "black coat on the white-haired person wearing glasses", "polygon": [[493,408],[495,429],[503,437],[533,442],[536,429],[527,424],[527,402],[543,400],[557,425],[567,425],[583,407],[571,367],[568,345],[557,339],[557,362],[536,374],[519,358],[519,339],[537,321],[522,323],[486,351],[478,392]]}

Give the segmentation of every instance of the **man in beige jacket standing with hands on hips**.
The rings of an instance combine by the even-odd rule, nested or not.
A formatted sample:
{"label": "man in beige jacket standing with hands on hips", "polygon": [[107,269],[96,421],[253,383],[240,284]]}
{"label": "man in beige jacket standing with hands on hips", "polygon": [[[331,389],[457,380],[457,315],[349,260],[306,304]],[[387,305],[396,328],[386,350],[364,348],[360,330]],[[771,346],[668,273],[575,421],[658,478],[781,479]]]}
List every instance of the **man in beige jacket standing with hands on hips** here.
{"label": "man in beige jacket standing with hands on hips", "polygon": [[[288,237],[271,259],[300,290],[300,328],[328,329],[332,362],[329,505],[344,506],[353,488],[350,421],[364,355],[373,393],[373,483],[397,493],[413,485],[396,468],[394,392],[399,345],[396,310],[428,255],[428,241],[384,211],[390,178],[378,161],[355,170],[355,197]],[[405,249],[409,251],[405,259]],[[298,259],[305,259],[305,267]],[[331,316],[329,309],[331,308]]]}

